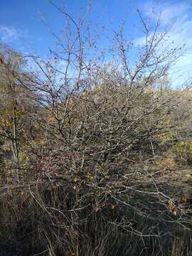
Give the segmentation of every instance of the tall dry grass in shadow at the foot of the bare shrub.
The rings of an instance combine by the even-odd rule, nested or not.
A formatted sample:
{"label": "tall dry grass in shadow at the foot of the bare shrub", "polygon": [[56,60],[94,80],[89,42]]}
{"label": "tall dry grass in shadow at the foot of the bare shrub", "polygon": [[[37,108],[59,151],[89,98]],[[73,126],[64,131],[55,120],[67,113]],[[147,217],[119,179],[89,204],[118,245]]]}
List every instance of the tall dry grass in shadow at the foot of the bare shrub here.
{"label": "tall dry grass in shadow at the foot of the bare shrub", "polygon": [[[191,232],[176,218],[140,215],[133,208],[68,210],[63,187],[12,189],[0,201],[1,255],[189,256]],[[70,194],[70,200],[74,194]],[[138,200],[138,198],[137,198]],[[141,198],[143,200],[143,198]],[[136,201],[136,199],[135,199]],[[137,202],[138,203],[138,202]],[[138,232],[137,232],[138,231]]]}

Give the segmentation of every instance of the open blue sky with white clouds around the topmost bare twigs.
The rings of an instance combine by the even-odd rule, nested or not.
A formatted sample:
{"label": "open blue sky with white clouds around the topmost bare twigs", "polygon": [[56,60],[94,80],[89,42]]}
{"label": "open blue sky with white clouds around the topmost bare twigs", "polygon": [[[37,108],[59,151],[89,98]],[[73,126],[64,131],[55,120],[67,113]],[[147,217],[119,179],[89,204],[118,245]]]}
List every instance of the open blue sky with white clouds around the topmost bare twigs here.
{"label": "open blue sky with white clouds around the topmost bare twigs", "polygon": [[[55,0],[54,3],[60,5],[62,1]],[[73,16],[78,16],[81,8],[85,9],[87,6],[87,1],[66,0],[65,6]],[[139,25],[137,8],[139,7],[143,14],[147,14],[152,6],[156,6],[156,11],[162,11],[163,23],[176,21],[174,28],[171,29],[171,40],[178,44],[186,43],[186,48],[177,65],[171,70],[171,76],[173,80],[186,80],[191,76],[192,69],[191,0],[160,0],[158,4],[156,1],[144,0],[95,0],[92,1],[91,19],[93,23],[107,24],[109,28],[115,29],[122,18],[126,20],[129,18],[127,34],[132,35],[135,31],[134,26]],[[41,22],[40,13],[46,17],[46,21],[55,31],[60,29],[62,16],[49,0],[1,0],[0,41],[23,53],[33,51],[38,55],[46,56],[54,41]],[[142,40],[139,34],[136,39]]]}

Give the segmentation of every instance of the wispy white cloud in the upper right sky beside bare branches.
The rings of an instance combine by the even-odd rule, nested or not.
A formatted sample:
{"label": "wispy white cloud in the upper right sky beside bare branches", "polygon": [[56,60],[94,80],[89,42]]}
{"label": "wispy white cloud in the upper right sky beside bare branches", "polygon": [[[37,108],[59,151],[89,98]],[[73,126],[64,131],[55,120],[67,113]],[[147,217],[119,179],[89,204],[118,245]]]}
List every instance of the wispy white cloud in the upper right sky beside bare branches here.
{"label": "wispy white cloud in the upper right sky beside bare branches", "polygon": [[[175,46],[183,46],[183,54],[178,59],[176,65],[170,70],[171,80],[174,84],[183,83],[191,78],[192,69],[192,8],[186,2],[177,2],[172,4],[166,1],[164,4],[152,4],[148,1],[143,6],[144,13],[151,15],[154,22],[159,18],[161,12],[161,24],[173,23],[169,32],[169,41],[166,41],[167,50],[169,43],[174,42]],[[138,43],[142,42],[142,38],[138,38]],[[165,46],[164,46],[165,47]]]}

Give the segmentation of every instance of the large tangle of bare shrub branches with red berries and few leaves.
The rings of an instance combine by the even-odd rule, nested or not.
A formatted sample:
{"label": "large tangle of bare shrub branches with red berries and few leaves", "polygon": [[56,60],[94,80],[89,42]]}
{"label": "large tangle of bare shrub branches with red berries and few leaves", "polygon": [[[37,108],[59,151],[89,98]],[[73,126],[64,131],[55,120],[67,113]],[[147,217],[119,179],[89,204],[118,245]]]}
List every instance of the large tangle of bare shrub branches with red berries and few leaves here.
{"label": "large tangle of bare shrub branches with red berries and few leaves", "polygon": [[172,226],[191,228],[182,191],[164,182],[164,169],[149,170],[176,145],[179,154],[190,130],[191,90],[169,86],[181,46],[165,48],[171,28],[137,10],[142,45],[121,26],[101,50],[107,33],[93,33],[90,9],[75,19],[55,7],[65,21],[59,34],[43,21],[57,43],[48,60],[1,45],[2,244],[26,239],[25,250],[41,255],[146,255],[152,240],[158,255]]}

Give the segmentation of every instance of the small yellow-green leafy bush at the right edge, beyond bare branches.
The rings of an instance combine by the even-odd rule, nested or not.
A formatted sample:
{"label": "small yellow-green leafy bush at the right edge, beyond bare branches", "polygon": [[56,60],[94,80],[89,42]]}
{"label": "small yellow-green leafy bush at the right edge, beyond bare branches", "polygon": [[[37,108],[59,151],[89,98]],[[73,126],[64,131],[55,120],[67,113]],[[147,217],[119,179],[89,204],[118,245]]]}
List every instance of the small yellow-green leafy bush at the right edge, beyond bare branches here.
{"label": "small yellow-green leafy bush at the right edge, beyond bare branches", "polygon": [[177,142],[172,151],[181,163],[192,164],[192,142]]}

